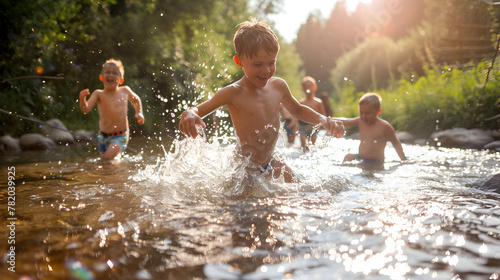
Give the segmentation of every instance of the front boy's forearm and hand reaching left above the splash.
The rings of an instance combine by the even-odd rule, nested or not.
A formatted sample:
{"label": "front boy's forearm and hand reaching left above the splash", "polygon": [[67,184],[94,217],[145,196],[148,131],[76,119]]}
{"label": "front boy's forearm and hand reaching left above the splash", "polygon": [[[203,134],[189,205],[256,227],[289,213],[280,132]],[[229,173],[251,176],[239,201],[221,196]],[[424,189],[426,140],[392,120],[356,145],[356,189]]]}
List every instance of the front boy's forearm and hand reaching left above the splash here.
{"label": "front boy's forearm and hand reaching left above the splash", "polygon": [[198,136],[196,126],[200,125],[203,128],[206,127],[202,118],[212,113],[220,106],[229,103],[231,88],[231,86],[225,87],[214,94],[211,99],[184,111],[179,122],[179,130],[189,137],[196,138],[196,136]]}

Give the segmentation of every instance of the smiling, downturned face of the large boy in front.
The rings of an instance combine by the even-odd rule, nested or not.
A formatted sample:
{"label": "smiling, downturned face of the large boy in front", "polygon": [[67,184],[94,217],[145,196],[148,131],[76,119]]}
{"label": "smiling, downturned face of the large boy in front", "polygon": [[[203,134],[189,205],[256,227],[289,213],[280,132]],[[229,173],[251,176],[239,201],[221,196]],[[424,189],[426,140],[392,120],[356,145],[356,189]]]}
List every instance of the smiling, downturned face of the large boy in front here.
{"label": "smiling, downturned face of the large boy in front", "polygon": [[251,58],[235,56],[234,61],[243,69],[245,76],[255,87],[264,87],[276,72],[277,56],[278,53],[269,54],[264,49],[260,49],[257,55]]}

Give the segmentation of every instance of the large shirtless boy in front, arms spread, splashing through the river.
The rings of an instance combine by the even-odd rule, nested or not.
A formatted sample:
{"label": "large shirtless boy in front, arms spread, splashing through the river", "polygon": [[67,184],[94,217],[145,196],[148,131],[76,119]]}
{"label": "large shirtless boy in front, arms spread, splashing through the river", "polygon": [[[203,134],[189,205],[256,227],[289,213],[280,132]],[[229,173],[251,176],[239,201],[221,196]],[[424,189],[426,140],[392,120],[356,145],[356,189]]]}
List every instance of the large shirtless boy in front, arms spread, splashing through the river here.
{"label": "large shirtless boy in front, arms spread, splashing through the river", "polygon": [[280,104],[298,119],[323,125],[331,135],[340,137],[343,127],[340,122],[301,105],[286,82],[273,77],[279,42],[267,24],[255,19],[241,23],[233,43],[233,60],[243,70],[243,78],[222,88],[210,100],[183,112],[179,129],[189,137],[196,137],[196,126],[205,127],[202,117],[225,105],[238,137],[238,152],[248,157],[256,170],[271,171],[274,178],[283,174],[286,182],[296,182],[291,168],[273,159],[280,130]]}

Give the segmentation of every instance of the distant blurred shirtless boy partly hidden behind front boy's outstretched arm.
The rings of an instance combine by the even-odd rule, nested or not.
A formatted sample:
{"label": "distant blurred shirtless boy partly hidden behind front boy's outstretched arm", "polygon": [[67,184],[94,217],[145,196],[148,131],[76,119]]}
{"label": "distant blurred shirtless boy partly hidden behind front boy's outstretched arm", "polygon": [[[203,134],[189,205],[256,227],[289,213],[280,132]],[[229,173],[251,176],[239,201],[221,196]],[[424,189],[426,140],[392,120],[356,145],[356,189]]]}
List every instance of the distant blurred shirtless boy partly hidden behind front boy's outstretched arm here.
{"label": "distant blurred shirtless boy partly hidden behind front boy's outstretched arm", "polygon": [[[304,77],[302,79],[302,91],[306,94],[306,98],[300,100],[300,104],[306,105],[322,115],[326,115],[323,101],[316,97],[317,90],[318,86],[316,85],[316,80],[311,76]],[[304,151],[307,150],[306,143],[308,139],[311,140],[313,145],[316,143],[318,130],[314,132],[313,130],[315,130],[313,124],[299,121],[300,142],[302,143],[302,149],[304,149]]]}

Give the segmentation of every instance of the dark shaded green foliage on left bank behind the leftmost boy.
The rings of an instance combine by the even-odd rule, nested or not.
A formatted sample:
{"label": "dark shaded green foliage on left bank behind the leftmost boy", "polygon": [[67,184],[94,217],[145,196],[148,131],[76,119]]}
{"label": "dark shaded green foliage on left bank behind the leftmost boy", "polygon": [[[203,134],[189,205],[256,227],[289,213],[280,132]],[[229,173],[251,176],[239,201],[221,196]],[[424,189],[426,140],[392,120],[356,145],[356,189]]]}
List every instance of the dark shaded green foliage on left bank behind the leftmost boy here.
{"label": "dark shaded green foliage on left bank behind the leftmost boy", "polygon": [[[179,111],[207,98],[239,72],[232,66],[232,36],[248,19],[247,1],[1,1],[7,28],[0,48],[0,108],[70,129],[96,129],[96,110],[82,115],[78,93],[102,87],[106,59],[120,59],[125,84],[142,99],[146,124],[132,130],[174,131]],[[44,78],[9,80],[35,74]],[[167,117],[168,116],[168,117]],[[36,127],[1,114],[0,133],[19,135]]]}

